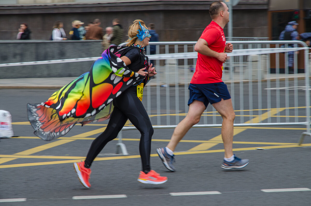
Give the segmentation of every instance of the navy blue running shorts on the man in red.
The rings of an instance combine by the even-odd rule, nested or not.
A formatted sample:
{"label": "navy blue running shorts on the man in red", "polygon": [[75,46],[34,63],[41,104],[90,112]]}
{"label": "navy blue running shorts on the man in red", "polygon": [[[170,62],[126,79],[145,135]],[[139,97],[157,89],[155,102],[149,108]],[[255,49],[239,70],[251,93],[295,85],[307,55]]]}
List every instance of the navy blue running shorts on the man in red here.
{"label": "navy blue running shorts on the man in red", "polygon": [[207,107],[209,103],[214,104],[220,102],[221,99],[227,100],[231,96],[227,85],[224,82],[209,84],[189,84],[189,101],[190,105],[194,100],[202,101]]}

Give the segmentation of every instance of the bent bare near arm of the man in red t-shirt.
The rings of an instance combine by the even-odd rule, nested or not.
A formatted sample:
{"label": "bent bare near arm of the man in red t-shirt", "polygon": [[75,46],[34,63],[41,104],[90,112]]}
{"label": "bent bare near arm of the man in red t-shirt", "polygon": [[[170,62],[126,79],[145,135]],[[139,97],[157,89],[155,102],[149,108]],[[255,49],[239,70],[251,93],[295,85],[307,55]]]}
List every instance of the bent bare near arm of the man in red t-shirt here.
{"label": "bent bare near arm of the man in red t-shirt", "polygon": [[209,56],[209,57],[214,57],[216,59],[218,59],[219,61],[221,61],[222,63],[225,63],[226,59],[227,59],[227,54],[226,53],[218,53],[216,51],[211,50],[208,47],[208,43],[206,40],[204,39],[199,39],[197,40],[197,43],[194,46],[194,50],[200,54]]}

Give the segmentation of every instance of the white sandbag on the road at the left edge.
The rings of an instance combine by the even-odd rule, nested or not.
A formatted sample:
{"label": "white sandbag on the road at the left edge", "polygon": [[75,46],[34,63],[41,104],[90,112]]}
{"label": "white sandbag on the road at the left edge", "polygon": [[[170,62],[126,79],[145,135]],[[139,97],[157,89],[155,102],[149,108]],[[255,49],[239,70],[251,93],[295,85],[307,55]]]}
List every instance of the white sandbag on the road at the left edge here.
{"label": "white sandbag on the road at the left edge", "polygon": [[0,138],[10,138],[13,134],[12,116],[10,112],[0,110]]}

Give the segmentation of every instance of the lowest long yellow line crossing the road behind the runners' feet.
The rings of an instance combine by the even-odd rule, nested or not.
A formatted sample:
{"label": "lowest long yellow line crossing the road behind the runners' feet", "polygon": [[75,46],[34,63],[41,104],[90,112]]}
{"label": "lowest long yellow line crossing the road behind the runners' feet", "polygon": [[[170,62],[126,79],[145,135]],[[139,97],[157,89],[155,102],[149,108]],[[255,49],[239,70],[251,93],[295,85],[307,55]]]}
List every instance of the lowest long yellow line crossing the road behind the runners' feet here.
{"label": "lowest long yellow line crossing the road behind the runners' feet", "polygon": [[[261,147],[262,149],[274,149],[274,148],[289,148],[289,147],[308,147],[311,144],[290,144],[290,145],[277,145],[277,146],[266,146]],[[245,147],[245,148],[235,148],[233,151],[245,151],[245,150],[256,150],[256,147]],[[202,154],[202,153],[213,153],[213,152],[224,152],[224,149],[218,150],[206,150],[206,151],[189,151],[189,152],[174,152],[176,155],[184,155],[184,154]],[[158,154],[151,154],[151,157],[157,157]],[[131,155],[131,156],[117,156],[117,157],[96,157],[95,161],[102,160],[117,160],[117,159],[131,159],[131,158],[139,158],[140,155]],[[84,157],[85,158],[85,157]],[[75,160],[63,160],[63,161],[53,161],[53,162],[35,162],[35,163],[22,163],[22,164],[12,164],[12,165],[0,165],[0,168],[11,168],[11,167],[24,167],[24,166],[38,166],[38,165],[52,165],[52,164],[63,164],[63,163],[73,163],[77,162],[81,159]]]}

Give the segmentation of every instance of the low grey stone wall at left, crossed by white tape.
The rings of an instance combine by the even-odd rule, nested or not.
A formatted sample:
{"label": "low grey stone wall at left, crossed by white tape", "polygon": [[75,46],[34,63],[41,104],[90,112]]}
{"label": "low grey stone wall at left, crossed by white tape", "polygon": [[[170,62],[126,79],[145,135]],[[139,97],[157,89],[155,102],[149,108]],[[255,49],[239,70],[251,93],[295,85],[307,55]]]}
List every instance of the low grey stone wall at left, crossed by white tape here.
{"label": "low grey stone wall at left, crossed by white tape", "polygon": [[[98,40],[86,41],[0,41],[0,62],[17,63],[57,59],[100,57]],[[0,79],[77,77],[88,72],[93,61],[0,67]]]}

